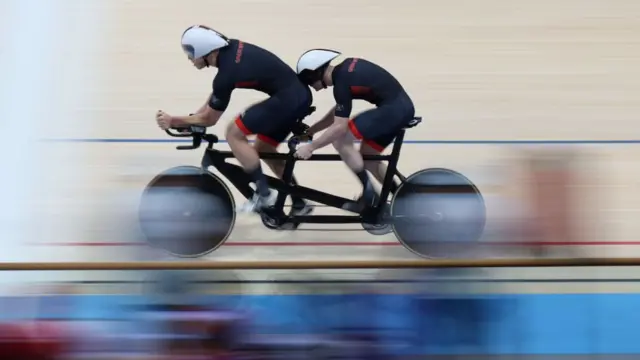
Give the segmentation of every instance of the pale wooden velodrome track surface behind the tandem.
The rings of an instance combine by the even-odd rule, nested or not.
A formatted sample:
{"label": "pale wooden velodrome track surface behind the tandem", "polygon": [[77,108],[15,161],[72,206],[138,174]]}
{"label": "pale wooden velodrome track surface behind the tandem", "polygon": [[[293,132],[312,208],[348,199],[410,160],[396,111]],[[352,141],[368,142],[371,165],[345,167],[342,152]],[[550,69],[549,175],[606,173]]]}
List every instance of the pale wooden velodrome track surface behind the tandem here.
{"label": "pale wooden velodrome track surface behind the tandem", "polygon": [[[407,134],[402,171],[423,167],[461,171],[485,194],[491,219],[512,215],[517,209],[504,203],[513,199],[517,203],[523,195],[518,191],[521,155],[532,149],[575,150],[581,175],[576,188],[582,190],[576,208],[586,219],[580,223],[580,239],[590,242],[581,251],[599,256],[640,254],[635,243],[640,241],[636,136],[640,3],[401,0],[389,5],[369,0],[322,4],[243,0],[221,4],[194,0],[184,6],[171,0],[107,0],[56,6],[68,21],[54,28],[34,20],[32,26],[52,34],[66,31],[56,33],[65,41],[47,59],[49,67],[58,71],[33,75],[33,87],[51,95],[43,99],[49,104],[41,105],[55,105],[59,118],[53,121],[47,114],[26,113],[32,107],[17,100],[13,101],[15,114],[46,118],[42,138],[86,141],[44,142],[37,145],[39,153],[29,155],[33,157],[29,161],[48,166],[42,172],[55,176],[25,190],[39,191],[32,204],[34,220],[23,227],[32,233],[30,242],[40,245],[5,252],[16,261],[160,256],[127,243],[140,240],[135,220],[144,185],[169,167],[199,162],[199,152],[174,150],[177,144],[167,143],[153,123],[158,109],[191,112],[210,91],[213,73],[195,71],[177,45],[179,34],[196,22],[265,46],[292,66],[308,48],[329,47],[387,67],[425,118]],[[340,15],[336,8],[341,9]],[[309,13],[330,19],[329,23],[309,21]],[[156,21],[140,21],[149,14]],[[87,46],[83,52],[74,52],[73,59],[65,58],[63,54],[76,50],[73,44]],[[25,84],[31,81],[20,79]],[[13,84],[13,94],[22,94],[14,86],[17,83],[7,84]],[[27,98],[28,89],[24,94]],[[234,114],[259,99],[251,92],[234,93],[216,131],[222,133]],[[310,122],[331,105],[330,92],[318,93],[315,105],[319,111]],[[357,104],[356,110],[363,107]],[[29,148],[19,136],[14,138],[5,142],[6,151],[21,146],[26,157]],[[514,143],[519,140],[525,143]],[[342,164],[300,164],[296,175],[301,183],[321,190],[349,197],[358,192],[357,182]],[[206,259],[413,257],[394,245],[391,235],[306,228],[295,233],[268,232],[256,219],[239,219],[229,245]]]}

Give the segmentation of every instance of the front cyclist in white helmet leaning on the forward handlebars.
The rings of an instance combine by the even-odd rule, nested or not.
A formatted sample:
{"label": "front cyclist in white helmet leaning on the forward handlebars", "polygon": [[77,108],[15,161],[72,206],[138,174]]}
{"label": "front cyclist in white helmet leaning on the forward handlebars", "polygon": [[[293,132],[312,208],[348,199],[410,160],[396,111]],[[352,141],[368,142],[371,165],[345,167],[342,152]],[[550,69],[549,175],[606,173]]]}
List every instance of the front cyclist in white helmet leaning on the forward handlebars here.
{"label": "front cyclist in white helmet leaning on the forward handlebars", "polygon": [[[171,116],[158,111],[158,125],[162,129],[213,126],[229,105],[234,89],[253,89],[269,95],[268,99],[249,107],[229,124],[226,139],[235,157],[256,183],[254,197],[240,210],[259,211],[274,205],[277,192],[267,185],[258,152],[276,152],[297,120],[308,113],[313,101],[311,91],[300,82],[293,69],[273,53],[240,40],[228,39],[206,26],[189,27],[182,34],[182,49],[198,70],[209,66],[218,68],[213,91],[207,103],[193,115]],[[253,147],[247,140],[247,135],[251,134],[258,135]],[[282,178],[284,162],[265,162]],[[295,215],[311,212],[312,208],[304,200],[295,197],[292,200]]]}

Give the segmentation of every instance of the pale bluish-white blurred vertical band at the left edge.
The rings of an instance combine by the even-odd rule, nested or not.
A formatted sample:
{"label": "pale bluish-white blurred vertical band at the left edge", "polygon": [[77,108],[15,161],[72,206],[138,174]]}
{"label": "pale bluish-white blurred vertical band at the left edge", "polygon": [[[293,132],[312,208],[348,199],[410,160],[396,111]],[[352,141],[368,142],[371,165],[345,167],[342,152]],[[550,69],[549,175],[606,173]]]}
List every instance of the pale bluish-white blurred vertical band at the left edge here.
{"label": "pale bluish-white blurred vertical band at the left edge", "polygon": [[[78,249],[52,254],[28,247],[81,231],[78,199],[86,183],[78,169],[86,152],[37,141],[52,135],[88,135],[87,90],[100,76],[95,66],[104,29],[104,6],[96,1],[3,1],[5,56],[0,56],[3,109],[0,210],[1,261],[65,261],[86,256]],[[91,5],[91,6],[89,6]],[[7,56],[8,55],[8,56]],[[82,155],[80,155],[82,153]],[[46,179],[46,180],[45,180]],[[25,275],[0,275],[20,281]],[[43,279],[46,280],[46,279]]]}

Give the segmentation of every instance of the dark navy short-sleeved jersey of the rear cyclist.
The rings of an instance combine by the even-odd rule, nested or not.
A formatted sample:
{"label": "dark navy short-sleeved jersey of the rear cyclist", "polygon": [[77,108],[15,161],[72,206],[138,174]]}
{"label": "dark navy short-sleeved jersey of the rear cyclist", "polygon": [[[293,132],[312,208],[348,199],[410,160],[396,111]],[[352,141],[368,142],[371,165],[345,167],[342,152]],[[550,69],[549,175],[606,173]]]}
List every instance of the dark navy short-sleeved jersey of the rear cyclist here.
{"label": "dark navy short-sleeved jersey of the rear cyclist", "polygon": [[365,100],[380,106],[404,94],[404,88],[382,67],[360,58],[347,58],[331,74],[335,116],[349,117],[352,101]]}

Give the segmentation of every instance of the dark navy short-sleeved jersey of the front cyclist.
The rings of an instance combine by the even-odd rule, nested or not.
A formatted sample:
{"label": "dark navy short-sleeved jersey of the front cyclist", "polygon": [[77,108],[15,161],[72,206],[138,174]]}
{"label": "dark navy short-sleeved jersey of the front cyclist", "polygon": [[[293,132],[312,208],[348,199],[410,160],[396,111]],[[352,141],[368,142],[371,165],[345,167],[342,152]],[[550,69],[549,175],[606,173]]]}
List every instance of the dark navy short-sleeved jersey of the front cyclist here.
{"label": "dark navy short-sleeved jersey of the front cyclist", "polygon": [[224,111],[234,89],[253,89],[269,96],[300,82],[295,71],[275,54],[259,46],[231,39],[216,59],[209,106]]}

